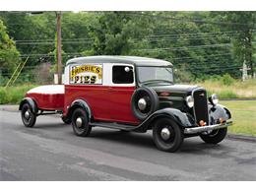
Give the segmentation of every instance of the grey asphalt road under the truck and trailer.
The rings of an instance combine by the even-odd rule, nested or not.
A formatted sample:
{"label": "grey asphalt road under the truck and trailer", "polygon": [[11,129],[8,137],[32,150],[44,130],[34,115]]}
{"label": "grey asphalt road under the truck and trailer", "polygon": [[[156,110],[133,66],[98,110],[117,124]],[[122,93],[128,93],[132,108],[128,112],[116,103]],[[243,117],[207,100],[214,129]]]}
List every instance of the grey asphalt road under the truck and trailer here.
{"label": "grey asphalt road under the truck and trailer", "polygon": [[255,142],[190,138],[171,154],[151,134],[96,127],[81,138],[56,116],[25,128],[20,113],[0,111],[0,180],[256,180]]}

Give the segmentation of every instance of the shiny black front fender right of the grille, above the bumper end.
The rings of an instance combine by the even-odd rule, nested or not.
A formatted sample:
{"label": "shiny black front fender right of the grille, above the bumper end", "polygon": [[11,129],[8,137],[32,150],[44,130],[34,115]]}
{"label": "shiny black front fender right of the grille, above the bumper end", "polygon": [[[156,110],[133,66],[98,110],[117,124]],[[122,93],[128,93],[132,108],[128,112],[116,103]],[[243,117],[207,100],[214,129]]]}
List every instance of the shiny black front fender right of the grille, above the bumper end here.
{"label": "shiny black front fender right of the grille, above the bumper end", "polygon": [[224,120],[231,118],[231,112],[222,104],[213,105],[209,103],[208,108],[210,124],[218,123],[220,118]]}

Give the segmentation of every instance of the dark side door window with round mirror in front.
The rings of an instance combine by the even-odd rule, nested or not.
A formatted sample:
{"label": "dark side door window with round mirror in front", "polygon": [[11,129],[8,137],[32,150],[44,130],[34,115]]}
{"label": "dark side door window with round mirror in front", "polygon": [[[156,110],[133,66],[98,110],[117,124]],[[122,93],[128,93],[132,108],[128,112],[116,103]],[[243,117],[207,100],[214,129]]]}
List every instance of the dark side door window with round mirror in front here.
{"label": "dark side door window with round mirror in front", "polygon": [[133,84],[133,67],[131,66],[113,66],[112,82],[114,84]]}

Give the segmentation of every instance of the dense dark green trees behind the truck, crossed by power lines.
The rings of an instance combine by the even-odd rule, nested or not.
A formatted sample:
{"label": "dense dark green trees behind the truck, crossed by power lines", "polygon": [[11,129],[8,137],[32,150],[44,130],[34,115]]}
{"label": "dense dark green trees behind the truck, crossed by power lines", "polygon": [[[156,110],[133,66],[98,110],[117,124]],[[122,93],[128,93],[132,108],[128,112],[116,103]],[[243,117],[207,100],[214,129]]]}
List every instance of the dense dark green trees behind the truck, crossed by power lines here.
{"label": "dense dark green trees behind the truck, crossed by power lines", "polygon": [[[56,63],[54,12],[0,12],[0,18],[21,59],[30,56],[24,73]],[[62,63],[77,56],[138,55],[170,61],[181,82],[226,73],[240,78],[244,60],[252,70],[256,63],[254,21],[254,12],[63,12]]]}

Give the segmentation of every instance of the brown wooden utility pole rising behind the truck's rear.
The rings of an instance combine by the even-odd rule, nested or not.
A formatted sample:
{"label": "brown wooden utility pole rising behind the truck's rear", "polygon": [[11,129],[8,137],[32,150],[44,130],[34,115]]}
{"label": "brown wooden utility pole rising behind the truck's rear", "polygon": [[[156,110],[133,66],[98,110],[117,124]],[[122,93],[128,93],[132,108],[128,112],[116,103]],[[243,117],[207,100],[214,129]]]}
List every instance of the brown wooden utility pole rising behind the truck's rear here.
{"label": "brown wooden utility pole rising behind the truck's rear", "polygon": [[57,17],[57,73],[58,84],[62,84],[62,64],[61,64],[61,12],[56,12]]}

